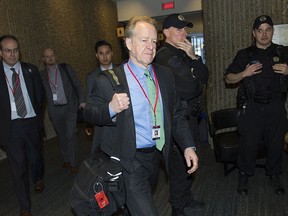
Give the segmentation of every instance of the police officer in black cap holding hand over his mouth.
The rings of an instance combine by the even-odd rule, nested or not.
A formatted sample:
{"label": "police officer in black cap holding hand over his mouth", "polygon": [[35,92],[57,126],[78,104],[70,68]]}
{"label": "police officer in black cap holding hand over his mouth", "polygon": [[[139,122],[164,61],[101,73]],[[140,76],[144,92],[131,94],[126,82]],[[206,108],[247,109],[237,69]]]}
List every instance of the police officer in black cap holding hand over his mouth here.
{"label": "police officer in black cap holding hand over his mouth", "polygon": [[[180,14],[171,14],[163,21],[163,33],[166,40],[157,52],[156,63],[169,67],[174,75],[176,90],[182,105],[186,107],[186,118],[193,133],[194,141],[198,129],[198,117],[201,111],[203,87],[208,81],[208,69],[200,56],[195,55],[191,41],[187,40],[187,28],[191,22],[185,21]],[[199,143],[196,142],[196,146]],[[192,180],[187,175],[183,154],[177,143],[174,143],[169,168],[170,202],[172,215],[191,215],[204,209],[204,203],[192,198]]]}

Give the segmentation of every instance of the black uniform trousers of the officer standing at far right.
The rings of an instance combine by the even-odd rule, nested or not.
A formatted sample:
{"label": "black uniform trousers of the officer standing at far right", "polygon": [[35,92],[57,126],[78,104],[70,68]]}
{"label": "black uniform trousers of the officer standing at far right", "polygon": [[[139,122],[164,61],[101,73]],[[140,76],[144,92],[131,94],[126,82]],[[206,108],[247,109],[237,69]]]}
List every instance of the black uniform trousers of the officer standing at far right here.
{"label": "black uniform trousers of the officer standing at far right", "polygon": [[272,100],[268,104],[248,101],[238,124],[240,134],[239,170],[251,176],[255,173],[259,143],[267,149],[266,175],[282,172],[284,135],[288,129],[285,101]]}

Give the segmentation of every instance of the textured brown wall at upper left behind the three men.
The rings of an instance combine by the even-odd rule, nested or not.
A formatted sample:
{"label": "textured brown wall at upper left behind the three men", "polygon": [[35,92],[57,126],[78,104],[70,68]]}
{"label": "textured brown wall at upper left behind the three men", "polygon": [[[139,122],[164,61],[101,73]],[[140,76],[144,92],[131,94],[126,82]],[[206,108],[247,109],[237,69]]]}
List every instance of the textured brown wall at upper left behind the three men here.
{"label": "textured brown wall at upper left behind the three men", "polygon": [[[0,34],[18,37],[22,60],[41,68],[43,48],[52,47],[59,62],[72,64],[82,82],[96,66],[96,40],[111,41],[119,53],[117,24],[116,4],[111,0],[1,0]],[[120,59],[115,56],[115,61]]]}

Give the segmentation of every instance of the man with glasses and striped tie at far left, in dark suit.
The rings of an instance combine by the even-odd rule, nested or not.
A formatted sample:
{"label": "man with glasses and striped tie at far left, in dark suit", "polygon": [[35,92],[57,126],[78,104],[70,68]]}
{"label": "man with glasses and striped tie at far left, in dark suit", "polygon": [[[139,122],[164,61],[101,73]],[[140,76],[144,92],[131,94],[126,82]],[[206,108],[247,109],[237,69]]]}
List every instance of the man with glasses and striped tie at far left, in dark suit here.
{"label": "man with glasses and striped tie at far left, in dark suit", "polygon": [[38,68],[19,61],[19,43],[14,36],[0,38],[0,56],[0,143],[7,153],[20,215],[29,216],[29,165],[35,191],[40,193],[44,189],[41,111],[45,93]]}

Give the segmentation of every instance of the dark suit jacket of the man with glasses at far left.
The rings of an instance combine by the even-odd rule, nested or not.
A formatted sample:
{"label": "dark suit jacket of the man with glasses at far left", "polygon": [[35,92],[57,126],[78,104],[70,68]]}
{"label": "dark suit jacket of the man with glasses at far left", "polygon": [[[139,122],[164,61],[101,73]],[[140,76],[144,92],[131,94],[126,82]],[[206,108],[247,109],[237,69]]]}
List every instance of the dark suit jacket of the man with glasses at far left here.
{"label": "dark suit jacket of the man with glasses at far left", "polygon": [[[43,127],[42,106],[45,97],[39,70],[35,65],[20,62],[26,88],[31,100],[36,117],[39,119],[36,126]],[[11,130],[11,105],[9,89],[6,83],[3,62],[0,63],[0,145],[8,145]]]}

